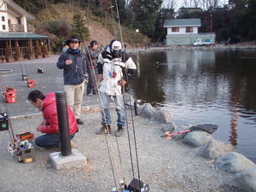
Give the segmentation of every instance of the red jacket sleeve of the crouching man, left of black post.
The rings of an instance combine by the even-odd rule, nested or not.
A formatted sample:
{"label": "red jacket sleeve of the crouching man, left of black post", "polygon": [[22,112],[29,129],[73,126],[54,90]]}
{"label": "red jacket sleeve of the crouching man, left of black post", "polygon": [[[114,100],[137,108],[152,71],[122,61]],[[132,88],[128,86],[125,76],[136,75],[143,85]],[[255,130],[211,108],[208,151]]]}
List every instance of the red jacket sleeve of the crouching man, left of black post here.
{"label": "red jacket sleeve of the crouching man, left of black post", "polygon": [[43,133],[58,133],[59,126],[58,126],[58,118],[56,110],[49,109],[44,113],[44,119],[46,121],[45,125],[43,125],[40,129]]}

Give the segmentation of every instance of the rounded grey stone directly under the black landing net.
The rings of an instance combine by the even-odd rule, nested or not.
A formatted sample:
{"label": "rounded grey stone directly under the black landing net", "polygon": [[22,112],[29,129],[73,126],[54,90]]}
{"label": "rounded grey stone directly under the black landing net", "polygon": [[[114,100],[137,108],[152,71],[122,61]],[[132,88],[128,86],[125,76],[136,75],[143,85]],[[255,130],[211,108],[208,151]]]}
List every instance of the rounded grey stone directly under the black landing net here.
{"label": "rounded grey stone directly under the black landing net", "polygon": [[189,144],[190,146],[197,148],[206,145],[212,140],[212,135],[205,131],[190,131],[183,138],[183,143]]}

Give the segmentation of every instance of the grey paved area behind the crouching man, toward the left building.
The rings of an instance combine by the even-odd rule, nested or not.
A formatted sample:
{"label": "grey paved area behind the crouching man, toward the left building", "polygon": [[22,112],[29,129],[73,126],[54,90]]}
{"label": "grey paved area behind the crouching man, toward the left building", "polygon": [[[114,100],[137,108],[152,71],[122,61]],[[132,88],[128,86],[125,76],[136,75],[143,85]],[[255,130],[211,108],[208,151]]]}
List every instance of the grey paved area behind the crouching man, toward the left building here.
{"label": "grey paved area behind the crouching man, toward the left building", "polygon": [[[7,86],[17,90],[16,102],[6,103],[10,117],[14,118],[39,113],[30,103],[26,102],[26,98],[30,91],[41,90],[42,92],[47,93],[63,90],[63,70],[56,67],[58,58],[59,55],[52,55],[43,59],[9,62],[0,65],[1,70],[14,70],[12,73],[0,74],[1,92],[3,92]],[[29,79],[35,80],[36,86],[34,88],[28,88],[22,80],[21,67],[23,68],[23,74],[25,74],[25,68]],[[44,73],[38,73],[38,68],[43,68]],[[3,100],[0,103],[0,110],[3,113],[6,111],[3,105]],[[86,96],[84,93],[82,104],[84,109],[99,107],[99,103],[98,96]]]}

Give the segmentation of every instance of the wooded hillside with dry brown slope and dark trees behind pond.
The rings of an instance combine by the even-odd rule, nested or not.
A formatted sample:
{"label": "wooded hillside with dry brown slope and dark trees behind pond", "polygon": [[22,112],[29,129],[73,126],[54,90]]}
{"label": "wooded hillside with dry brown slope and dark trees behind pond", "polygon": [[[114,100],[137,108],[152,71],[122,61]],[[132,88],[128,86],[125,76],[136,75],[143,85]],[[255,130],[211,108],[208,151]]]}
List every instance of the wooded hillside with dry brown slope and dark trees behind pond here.
{"label": "wooded hillside with dry brown slope and dark trees behind pond", "polygon": [[256,39],[255,0],[14,1],[36,15],[37,20],[32,22],[34,32],[49,35],[54,40],[54,50],[71,33],[85,42],[97,39],[101,44],[108,44],[111,38],[120,38],[119,22],[126,44],[135,46],[148,39],[163,42],[164,21],[174,18],[201,18],[199,32],[215,32],[217,41],[230,37],[244,41]]}

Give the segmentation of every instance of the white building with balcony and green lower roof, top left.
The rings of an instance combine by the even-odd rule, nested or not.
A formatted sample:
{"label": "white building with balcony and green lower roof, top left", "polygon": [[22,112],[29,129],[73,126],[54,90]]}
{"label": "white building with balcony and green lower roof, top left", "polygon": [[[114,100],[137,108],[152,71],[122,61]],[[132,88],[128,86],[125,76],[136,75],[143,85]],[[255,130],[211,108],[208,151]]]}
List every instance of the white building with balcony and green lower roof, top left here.
{"label": "white building with balcony and green lower roof, top left", "polygon": [[[6,48],[9,46],[10,58],[15,58],[15,44],[18,43],[22,57],[28,58],[28,49],[35,53],[38,42],[40,47],[44,44],[49,49],[48,36],[28,32],[27,20],[35,20],[35,17],[12,0],[0,0],[0,62],[6,57]],[[29,48],[31,44],[32,48]],[[7,46],[8,45],[8,46]]]}

